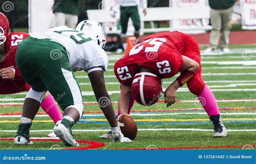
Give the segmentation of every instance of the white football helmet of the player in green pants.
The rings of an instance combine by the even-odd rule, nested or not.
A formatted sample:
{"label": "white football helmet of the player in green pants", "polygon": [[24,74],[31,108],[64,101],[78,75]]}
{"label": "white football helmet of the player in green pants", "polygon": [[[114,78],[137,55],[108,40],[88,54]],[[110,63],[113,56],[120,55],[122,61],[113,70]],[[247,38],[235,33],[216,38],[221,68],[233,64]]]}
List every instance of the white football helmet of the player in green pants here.
{"label": "white football helmet of the player in green pants", "polygon": [[77,25],[77,31],[85,33],[97,44],[104,48],[106,44],[106,35],[102,26],[94,20],[83,20]]}

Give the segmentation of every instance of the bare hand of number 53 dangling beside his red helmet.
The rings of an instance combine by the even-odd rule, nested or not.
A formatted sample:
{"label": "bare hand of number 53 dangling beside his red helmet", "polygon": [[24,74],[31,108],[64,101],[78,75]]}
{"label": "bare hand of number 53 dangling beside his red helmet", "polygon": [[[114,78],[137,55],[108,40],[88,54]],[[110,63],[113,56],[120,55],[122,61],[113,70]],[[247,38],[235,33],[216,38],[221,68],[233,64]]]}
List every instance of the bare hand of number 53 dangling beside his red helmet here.
{"label": "bare hand of number 53 dangling beside his red helmet", "polygon": [[179,83],[177,81],[174,81],[171,85],[169,85],[168,88],[166,88],[164,92],[164,103],[166,103],[166,106],[171,106],[176,102],[177,98],[177,89],[179,88]]}

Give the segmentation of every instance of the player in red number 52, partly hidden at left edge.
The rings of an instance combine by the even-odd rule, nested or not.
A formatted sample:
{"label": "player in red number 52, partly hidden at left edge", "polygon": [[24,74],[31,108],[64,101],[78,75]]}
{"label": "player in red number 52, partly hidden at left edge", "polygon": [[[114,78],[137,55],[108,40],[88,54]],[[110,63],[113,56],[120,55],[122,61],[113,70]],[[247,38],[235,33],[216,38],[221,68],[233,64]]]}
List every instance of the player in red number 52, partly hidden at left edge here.
{"label": "player in red number 52, partly hidden at left edge", "polygon": [[[15,62],[18,44],[28,35],[24,32],[9,33],[8,19],[0,12],[0,95],[30,90],[30,86],[23,81]],[[41,107],[55,124],[62,119],[59,109],[49,93],[44,95]],[[54,133],[50,133],[49,137],[56,136]]]}

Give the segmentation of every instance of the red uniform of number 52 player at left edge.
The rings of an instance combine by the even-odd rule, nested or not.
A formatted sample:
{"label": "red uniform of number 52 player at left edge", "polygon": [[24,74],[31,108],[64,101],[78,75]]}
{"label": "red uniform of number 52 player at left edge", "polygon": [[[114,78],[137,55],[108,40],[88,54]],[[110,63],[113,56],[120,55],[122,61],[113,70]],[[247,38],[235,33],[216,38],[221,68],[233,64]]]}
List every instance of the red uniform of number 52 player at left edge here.
{"label": "red uniform of number 52 player at left edge", "polygon": [[25,82],[16,66],[15,56],[19,43],[28,35],[24,32],[10,33],[6,39],[6,54],[0,60],[0,69],[8,67],[15,69],[15,80],[3,80],[0,76],[0,94],[15,94],[26,90]]}

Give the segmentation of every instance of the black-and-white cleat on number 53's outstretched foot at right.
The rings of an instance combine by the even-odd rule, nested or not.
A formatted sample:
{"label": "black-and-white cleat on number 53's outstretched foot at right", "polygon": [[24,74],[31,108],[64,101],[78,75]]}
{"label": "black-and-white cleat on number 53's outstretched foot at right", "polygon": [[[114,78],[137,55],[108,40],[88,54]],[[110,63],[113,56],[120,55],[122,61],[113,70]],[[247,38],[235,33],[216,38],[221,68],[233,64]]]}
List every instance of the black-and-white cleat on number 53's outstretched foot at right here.
{"label": "black-and-white cleat on number 53's outstretched foot at right", "polygon": [[212,137],[227,137],[228,132],[221,120],[220,115],[212,115],[210,119],[214,129],[214,134]]}

